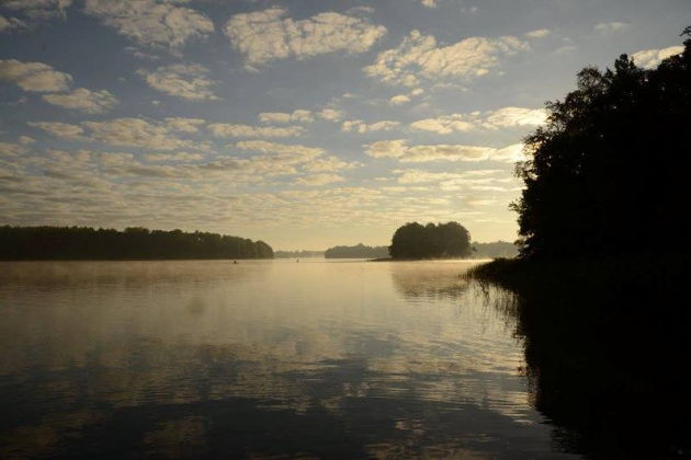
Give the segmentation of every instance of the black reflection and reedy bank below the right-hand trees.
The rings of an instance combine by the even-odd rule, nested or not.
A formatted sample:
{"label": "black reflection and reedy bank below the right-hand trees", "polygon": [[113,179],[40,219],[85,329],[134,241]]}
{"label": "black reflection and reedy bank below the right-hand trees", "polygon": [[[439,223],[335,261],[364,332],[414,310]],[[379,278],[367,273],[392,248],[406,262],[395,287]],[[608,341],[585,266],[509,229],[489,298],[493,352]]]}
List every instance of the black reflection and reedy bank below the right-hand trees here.
{"label": "black reflection and reedy bank below the right-hand trees", "polygon": [[497,260],[469,275],[516,294],[533,404],[560,450],[594,459],[691,458],[683,376],[691,336],[683,255]]}

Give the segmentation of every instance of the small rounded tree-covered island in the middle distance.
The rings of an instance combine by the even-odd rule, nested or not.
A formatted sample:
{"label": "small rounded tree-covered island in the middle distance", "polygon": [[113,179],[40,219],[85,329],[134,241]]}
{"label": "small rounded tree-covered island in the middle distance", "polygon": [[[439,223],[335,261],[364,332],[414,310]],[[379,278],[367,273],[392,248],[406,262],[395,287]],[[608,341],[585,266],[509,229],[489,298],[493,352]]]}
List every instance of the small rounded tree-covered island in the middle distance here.
{"label": "small rounded tree-covered island in the middle distance", "polygon": [[471,255],[471,233],[458,222],[406,223],[388,248],[393,258],[446,258]]}

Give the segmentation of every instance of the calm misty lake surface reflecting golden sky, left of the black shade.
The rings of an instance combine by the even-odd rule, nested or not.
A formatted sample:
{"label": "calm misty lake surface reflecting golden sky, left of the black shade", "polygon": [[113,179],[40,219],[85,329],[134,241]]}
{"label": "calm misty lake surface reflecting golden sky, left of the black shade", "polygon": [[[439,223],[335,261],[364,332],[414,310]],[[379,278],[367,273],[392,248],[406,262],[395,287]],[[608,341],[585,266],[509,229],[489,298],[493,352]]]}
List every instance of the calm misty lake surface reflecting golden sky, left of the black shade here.
{"label": "calm misty lake surface reflecting golden sky, left of the black shade", "polygon": [[0,457],[562,455],[471,263],[304,262],[0,264]]}

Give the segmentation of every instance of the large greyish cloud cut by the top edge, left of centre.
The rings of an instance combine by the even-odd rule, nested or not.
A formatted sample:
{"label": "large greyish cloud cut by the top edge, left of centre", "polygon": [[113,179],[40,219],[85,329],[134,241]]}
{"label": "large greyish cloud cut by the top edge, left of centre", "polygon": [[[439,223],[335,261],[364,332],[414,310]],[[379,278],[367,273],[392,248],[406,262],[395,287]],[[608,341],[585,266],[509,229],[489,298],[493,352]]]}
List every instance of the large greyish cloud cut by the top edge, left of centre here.
{"label": "large greyish cloud cut by the top edge, left of centre", "polygon": [[178,48],[214,32],[203,13],[166,0],[87,0],[84,12],[145,46]]}

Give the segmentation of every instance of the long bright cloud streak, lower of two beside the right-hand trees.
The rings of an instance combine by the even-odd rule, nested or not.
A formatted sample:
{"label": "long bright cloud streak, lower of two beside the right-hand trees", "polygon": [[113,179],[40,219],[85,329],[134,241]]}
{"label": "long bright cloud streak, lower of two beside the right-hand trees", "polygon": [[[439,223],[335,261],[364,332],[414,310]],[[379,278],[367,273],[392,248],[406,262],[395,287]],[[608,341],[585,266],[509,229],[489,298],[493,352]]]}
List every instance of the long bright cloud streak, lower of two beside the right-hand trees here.
{"label": "long bright cloud streak, lower of two beside the right-hand trees", "polygon": [[[520,147],[519,147],[520,146]],[[374,158],[393,158],[403,163],[428,161],[516,161],[522,145],[503,149],[464,145],[427,145],[408,147],[404,139],[380,140],[366,146],[365,153]]]}

